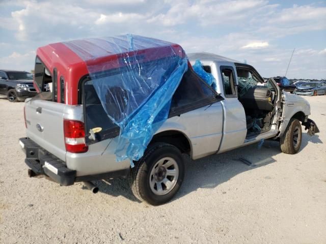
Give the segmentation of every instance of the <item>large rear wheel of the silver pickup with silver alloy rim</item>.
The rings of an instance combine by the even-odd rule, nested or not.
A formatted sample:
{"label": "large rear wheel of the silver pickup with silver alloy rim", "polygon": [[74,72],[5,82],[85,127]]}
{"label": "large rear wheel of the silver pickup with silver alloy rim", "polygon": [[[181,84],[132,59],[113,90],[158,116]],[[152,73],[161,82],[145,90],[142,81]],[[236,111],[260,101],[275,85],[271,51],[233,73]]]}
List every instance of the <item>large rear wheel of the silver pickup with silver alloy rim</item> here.
{"label": "large rear wheel of the silver pickup with silver alloy rim", "polygon": [[[172,176],[172,173],[175,175]],[[184,162],[180,150],[159,142],[150,145],[144,156],[135,162],[129,174],[129,183],[135,197],[156,206],[173,198],[182,185],[183,177]]]}

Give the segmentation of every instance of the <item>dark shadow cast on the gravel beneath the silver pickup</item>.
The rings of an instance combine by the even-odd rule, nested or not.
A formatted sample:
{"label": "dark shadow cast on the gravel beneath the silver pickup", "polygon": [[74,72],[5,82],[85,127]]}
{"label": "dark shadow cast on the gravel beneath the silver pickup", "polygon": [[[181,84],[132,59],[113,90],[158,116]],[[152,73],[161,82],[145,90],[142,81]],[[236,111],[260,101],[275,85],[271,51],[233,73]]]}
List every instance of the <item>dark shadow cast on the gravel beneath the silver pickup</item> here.
{"label": "dark shadow cast on the gravel beneath the silver pickup", "polygon": [[[318,135],[309,136],[303,133],[301,150],[308,142],[322,143]],[[265,141],[258,149],[257,143],[244,146],[220,155],[211,155],[199,160],[185,157],[186,173],[180,191],[174,200],[183,197],[199,188],[215,188],[232,177],[248,170],[255,170],[276,162],[274,156],[281,154],[278,141]],[[250,165],[240,159],[245,159]],[[96,181],[100,192],[111,196],[124,196],[125,198],[140,202],[133,196],[127,179],[107,179]]]}

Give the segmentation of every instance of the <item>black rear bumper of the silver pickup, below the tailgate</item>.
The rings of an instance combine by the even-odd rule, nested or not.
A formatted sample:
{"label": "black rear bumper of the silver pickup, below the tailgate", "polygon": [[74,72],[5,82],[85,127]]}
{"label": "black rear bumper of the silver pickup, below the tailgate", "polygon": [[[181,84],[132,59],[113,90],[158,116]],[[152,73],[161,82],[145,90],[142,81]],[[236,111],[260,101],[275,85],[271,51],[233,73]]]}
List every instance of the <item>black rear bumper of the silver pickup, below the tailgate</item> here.
{"label": "black rear bumper of the silver pickup, below the tailgate", "polygon": [[76,170],[69,169],[64,161],[48,153],[31,139],[20,138],[19,144],[26,154],[25,164],[34,172],[34,175],[46,175],[61,186],[71,186],[79,181],[127,176],[129,173],[129,169],[124,169],[96,175],[76,176]]}

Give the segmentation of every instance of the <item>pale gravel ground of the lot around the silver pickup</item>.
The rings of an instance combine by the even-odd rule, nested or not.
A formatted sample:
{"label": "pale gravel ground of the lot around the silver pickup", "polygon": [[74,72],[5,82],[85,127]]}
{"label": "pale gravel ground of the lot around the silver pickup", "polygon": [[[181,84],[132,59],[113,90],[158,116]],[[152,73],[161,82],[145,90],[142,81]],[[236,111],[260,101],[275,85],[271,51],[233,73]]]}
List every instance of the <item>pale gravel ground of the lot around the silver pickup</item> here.
{"label": "pale gravel ground of the lot around the silver pickup", "polygon": [[97,181],[92,194],[29,178],[23,103],[0,99],[0,242],[326,243],[326,97],[307,100],[321,132],[305,133],[298,154],[266,141],[188,160],[180,192],[153,207],[123,179]]}

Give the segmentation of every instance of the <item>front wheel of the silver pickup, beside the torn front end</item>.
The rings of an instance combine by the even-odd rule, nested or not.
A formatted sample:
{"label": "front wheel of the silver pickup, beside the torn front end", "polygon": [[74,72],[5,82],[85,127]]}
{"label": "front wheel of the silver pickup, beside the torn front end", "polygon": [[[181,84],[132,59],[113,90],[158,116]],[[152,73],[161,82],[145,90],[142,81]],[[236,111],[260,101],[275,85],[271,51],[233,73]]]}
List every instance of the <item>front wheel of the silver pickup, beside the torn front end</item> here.
{"label": "front wheel of the silver pickup, beside the torn front end", "polygon": [[296,118],[291,118],[283,136],[280,138],[281,151],[285,154],[296,154],[301,147],[302,127]]}

